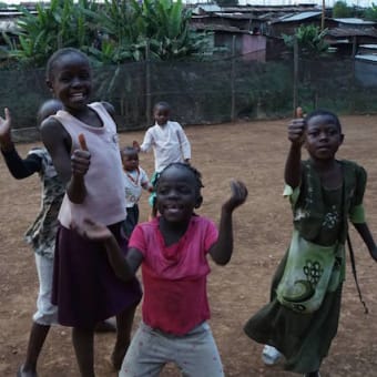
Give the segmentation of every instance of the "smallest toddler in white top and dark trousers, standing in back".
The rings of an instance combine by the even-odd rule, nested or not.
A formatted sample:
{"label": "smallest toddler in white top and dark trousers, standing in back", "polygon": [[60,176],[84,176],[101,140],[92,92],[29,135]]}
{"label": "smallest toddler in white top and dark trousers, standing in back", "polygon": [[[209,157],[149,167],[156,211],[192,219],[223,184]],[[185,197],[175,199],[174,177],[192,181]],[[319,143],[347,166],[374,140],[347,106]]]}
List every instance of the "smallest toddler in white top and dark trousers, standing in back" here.
{"label": "smallest toddler in white top and dark trousers, standing in back", "polygon": [[153,186],[145,171],[139,166],[139,154],[133,146],[125,146],[121,150],[123,163],[123,179],[125,191],[125,206],[128,216],[124,222],[125,235],[130,238],[133,228],[139,223],[139,200],[142,190],[150,193],[153,192]]}

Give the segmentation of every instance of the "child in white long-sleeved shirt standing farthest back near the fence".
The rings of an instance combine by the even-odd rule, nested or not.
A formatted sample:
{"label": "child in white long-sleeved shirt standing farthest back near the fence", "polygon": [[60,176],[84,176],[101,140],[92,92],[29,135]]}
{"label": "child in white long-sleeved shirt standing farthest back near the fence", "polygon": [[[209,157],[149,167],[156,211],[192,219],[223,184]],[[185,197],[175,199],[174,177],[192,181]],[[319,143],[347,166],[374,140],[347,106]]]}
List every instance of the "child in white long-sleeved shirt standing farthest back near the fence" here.
{"label": "child in white long-sleeved shirt standing farthest back near the fence", "polygon": [[[153,149],[154,173],[151,182],[154,185],[159,174],[173,162],[186,162],[191,160],[191,144],[177,122],[169,120],[171,108],[167,102],[157,102],[153,108],[155,124],[147,129],[141,145],[136,141],[133,146],[137,152],[149,152]],[[152,217],[156,216],[155,193],[150,196]]]}

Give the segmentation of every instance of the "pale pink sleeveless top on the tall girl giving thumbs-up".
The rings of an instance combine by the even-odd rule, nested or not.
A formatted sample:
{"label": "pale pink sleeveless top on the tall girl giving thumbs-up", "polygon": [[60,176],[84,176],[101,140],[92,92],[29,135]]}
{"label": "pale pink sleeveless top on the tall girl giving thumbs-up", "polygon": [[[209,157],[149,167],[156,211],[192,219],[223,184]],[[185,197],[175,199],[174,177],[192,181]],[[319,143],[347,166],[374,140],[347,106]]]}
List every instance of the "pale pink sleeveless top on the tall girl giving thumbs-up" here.
{"label": "pale pink sleeveless top on the tall girl giving thumbs-up", "polygon": [[59,212],[60,223],[68,228],[72,218],[78,224],[89,217],[110,225],[126,216],[116,125],[102,103],[94,102],[89,106],[99,114],[102,128],[88,125],[62,110],[53,115],[71,135],[72,151],[80,149],[79,134],[82,133],[91,154],[90,166],[84,176],[86,196],[83,203],[72,203],[65,193]]}

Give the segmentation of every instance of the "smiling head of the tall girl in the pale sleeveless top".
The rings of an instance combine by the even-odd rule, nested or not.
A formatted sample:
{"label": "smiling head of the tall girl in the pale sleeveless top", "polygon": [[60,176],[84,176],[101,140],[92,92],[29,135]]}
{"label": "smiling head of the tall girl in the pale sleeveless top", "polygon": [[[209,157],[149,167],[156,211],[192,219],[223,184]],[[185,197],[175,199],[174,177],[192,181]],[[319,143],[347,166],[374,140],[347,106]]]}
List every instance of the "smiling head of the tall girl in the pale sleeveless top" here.
{"label": "smiling head of the tall girl in the pale sleeveless top", "polygon": [[51,68],[48,85],[65,109],[85,106],[92,90],[88,59],[74,51],[61,54]]}

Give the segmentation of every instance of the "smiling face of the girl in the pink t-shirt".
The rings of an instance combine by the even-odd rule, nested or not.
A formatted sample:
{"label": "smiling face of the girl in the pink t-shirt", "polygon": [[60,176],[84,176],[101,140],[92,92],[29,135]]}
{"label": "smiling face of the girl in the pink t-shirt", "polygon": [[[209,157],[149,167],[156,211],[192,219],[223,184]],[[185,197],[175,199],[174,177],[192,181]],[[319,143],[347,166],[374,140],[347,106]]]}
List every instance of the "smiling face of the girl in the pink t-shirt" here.
{"label": "smiling face of the girl in the pink t-shirt", "polygon": [[161,216],[174,223],[190,221],[201,201],[194,174],[186,167],[174,165],[161,174],[156,195]]}

